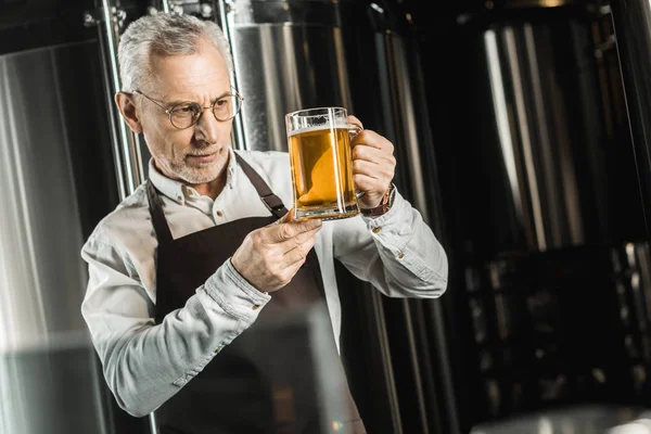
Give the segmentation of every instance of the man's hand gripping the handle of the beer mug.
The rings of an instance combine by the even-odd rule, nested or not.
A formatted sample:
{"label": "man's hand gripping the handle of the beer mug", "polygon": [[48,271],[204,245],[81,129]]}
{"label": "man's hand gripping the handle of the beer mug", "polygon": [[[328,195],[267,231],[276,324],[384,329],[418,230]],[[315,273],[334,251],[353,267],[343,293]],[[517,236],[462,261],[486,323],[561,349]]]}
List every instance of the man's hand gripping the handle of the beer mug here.
{"label": "man's hand gripping the handle of the beer mug", "polygon": [[[348,116],[348,123],[363,128],[353,115]],[[382,202],[395,175],[394,145],[385,137],[368,129],[352,137],[350,144],[353,181],[357,191],[363,193],[357,202],[361,208],[374,208]]]}

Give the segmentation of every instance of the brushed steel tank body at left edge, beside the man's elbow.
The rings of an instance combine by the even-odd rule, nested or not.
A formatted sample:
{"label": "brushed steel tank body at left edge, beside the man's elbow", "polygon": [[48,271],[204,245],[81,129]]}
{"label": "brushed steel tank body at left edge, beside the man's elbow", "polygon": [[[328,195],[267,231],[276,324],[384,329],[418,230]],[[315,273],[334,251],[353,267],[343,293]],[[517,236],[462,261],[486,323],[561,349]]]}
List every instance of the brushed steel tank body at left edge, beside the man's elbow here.
{"label": "brushed steel tank body at left edge, beside the man's elbow", "polygon": [[95,50],[82,42],[0,56],[2,434],[110,432],[79,311],[79,251],[116,205]]}

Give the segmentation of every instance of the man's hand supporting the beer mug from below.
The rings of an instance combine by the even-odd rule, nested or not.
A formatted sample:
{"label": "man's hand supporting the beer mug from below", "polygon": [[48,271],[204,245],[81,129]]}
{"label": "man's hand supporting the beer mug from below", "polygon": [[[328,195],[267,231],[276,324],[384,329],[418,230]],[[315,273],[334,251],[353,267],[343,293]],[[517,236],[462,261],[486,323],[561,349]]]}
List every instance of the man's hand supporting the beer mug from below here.
{"label": "man's hand supporting the beer mug from below", "polygon": [[315,245],[320,219],[294,221],[290,212],[278,221],[251,232],[235,251],[235,270],[261,292],[278,291],[294,278]]}

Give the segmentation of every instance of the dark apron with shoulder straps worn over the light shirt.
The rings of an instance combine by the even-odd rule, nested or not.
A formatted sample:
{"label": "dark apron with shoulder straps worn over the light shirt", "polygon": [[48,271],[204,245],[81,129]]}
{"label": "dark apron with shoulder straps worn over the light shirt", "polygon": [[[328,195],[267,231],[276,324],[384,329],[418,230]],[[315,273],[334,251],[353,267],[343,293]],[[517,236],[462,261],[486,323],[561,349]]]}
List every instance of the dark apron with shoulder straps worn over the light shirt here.
{"label": "dark apron with shoulder straps worn over the light shirt", "polygon": [[[288,213],[267,183],[235,154],[269,217],[251,217],[173,239],[163,203],[148,182],[156,252],[156,322],[184,306],[251,231]],[[292,281],[271,294],[257,320],[221,349],[170,399],[154,411],[161,434],[363,434],[350,396],[332,327],[318,344],[309,334],[310,311],[327,312],[319,261],[314,248]],[[330,317],[328,317],[330,326]],[[314,337],[314,336],[311,336]],[[192,336],[178,345],[192,345]],[[327,412],[315,370],[329,367],[327,390],[339,391],[336,412]],[[326,348],[323,348],[326,346]],[[324,355],[324,356],[323,356]],[[321,386],[319,386],[321,384]],[[332,394],[331,394],[332,395]]]}

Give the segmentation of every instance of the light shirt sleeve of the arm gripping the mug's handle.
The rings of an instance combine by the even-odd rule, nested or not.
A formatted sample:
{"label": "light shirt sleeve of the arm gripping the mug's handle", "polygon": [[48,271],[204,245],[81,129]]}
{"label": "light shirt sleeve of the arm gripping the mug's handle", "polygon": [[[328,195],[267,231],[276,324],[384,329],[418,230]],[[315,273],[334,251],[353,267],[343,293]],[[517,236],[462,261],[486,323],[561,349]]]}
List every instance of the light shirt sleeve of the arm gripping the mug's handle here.
{"label": "light shirt sleeve of the arm gripping the mug's handle", "polygon": [[394,194],[380,217],[341,220],[333,230],[335,257],[390,297],[436,298],[447,289],[446,252],[418,209]]}

